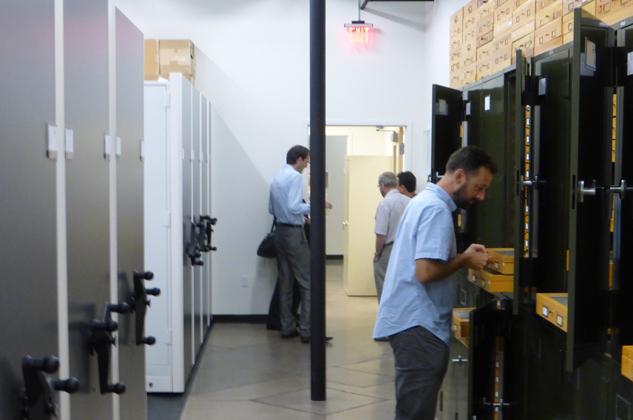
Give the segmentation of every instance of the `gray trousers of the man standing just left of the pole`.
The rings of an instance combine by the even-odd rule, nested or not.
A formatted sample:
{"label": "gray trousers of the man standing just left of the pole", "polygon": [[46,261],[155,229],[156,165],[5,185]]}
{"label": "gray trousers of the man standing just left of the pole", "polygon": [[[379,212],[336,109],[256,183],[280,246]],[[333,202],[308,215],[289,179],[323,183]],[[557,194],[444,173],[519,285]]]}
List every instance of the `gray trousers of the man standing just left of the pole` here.
{"label": "gray trousers of the man standing just left of the pole", "polygon": [[279,259],[279,318],[281,333],[297,330],[297,320],[292,313],[294,279],[301,292],[299,334],[310,337],[310,248],[303,228],[279,226],[275,230],[275,245]]}

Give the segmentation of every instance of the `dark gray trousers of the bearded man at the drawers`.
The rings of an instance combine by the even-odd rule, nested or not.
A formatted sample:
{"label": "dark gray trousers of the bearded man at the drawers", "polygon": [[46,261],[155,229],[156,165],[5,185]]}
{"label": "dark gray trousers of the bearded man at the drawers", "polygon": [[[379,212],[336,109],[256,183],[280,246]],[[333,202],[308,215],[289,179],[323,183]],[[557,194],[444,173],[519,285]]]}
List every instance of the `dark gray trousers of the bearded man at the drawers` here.
{"label": "dark gray trousers of the bearded man at the drawers", "polygon": [[422,327],[389,337],[396,362],[396,420],[433,420],[448,345]]}

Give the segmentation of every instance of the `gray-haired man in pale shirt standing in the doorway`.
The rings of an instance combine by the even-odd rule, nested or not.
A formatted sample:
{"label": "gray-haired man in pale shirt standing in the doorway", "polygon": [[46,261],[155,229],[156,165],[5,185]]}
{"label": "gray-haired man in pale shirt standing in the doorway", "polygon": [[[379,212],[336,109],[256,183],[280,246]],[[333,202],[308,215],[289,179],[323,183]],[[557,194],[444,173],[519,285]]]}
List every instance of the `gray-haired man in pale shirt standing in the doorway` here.
{"label": "gray-haired man in pale shirt standing in the doorway", "polygon": [[391,246],[396,237],[396,229],[409,197],[398,191],[398,179],[393,172],[384,172],[378,177],[378,188],[384,197],[376,209],[376,252],[374,253],[374,281],[376,296],[380,302],[382,285],[391,255]]}

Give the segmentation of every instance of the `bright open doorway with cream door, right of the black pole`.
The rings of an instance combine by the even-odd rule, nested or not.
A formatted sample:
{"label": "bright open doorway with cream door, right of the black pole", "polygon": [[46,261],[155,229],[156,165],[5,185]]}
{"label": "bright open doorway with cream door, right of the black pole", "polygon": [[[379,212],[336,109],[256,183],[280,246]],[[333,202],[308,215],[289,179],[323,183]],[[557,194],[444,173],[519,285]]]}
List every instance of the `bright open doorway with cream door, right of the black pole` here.
{"label": "bright open doorway with cream door, right of the black pole", "polygon": [[326,255],[342,259],[348,296],[375,296],[374,217],[382,199],[378,176],[401,172],[406,127],[326,127]]}

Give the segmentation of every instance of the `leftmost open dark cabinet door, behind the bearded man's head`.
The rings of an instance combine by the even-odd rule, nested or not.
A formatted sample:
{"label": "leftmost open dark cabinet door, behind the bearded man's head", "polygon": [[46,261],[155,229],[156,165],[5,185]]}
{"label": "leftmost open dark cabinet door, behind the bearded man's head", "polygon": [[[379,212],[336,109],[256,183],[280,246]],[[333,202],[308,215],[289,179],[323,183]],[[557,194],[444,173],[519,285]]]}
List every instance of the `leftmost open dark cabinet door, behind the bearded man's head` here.
{"label": "leftmost open dark cabinet door, behind the bearded man's head", "polygon": [[462,91],[433,85],[433,120],[431,123],[431,174],[436,183],[444,174],[446,161],[462,147],[461,125],[464,119]]}

